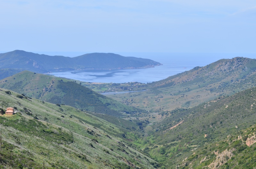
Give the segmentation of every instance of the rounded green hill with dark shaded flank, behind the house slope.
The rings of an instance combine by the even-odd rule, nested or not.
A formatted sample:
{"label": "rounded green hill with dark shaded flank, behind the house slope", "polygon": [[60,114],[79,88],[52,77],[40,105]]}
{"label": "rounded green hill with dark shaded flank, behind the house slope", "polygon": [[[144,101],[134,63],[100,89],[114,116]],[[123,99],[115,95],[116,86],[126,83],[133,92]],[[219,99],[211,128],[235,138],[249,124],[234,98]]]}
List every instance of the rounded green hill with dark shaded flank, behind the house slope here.
{"label": "rounded green hill with dark shaded flank, behind the house slope", "polygon": [[0,87],[54,104],[65,104],[86,111],[124,116],[141,111],[110,99],[87,87],[60,77],[22,71],[0,81]]}

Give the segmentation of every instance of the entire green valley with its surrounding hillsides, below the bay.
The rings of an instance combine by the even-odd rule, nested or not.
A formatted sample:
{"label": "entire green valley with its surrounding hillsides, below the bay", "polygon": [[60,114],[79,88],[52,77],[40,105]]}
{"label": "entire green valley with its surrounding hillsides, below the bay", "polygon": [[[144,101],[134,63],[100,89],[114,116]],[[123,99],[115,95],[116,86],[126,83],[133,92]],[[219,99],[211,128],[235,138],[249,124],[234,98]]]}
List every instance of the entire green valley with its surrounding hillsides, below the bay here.
{"label": "entire green valley with its surrounding hillsides, below the bay", "polygon": [[0,108],[17,111],[0,116],[0,165],[256,167],[255,74],[256,60],[243,57],[147,84],[18,72],[0,80]]}

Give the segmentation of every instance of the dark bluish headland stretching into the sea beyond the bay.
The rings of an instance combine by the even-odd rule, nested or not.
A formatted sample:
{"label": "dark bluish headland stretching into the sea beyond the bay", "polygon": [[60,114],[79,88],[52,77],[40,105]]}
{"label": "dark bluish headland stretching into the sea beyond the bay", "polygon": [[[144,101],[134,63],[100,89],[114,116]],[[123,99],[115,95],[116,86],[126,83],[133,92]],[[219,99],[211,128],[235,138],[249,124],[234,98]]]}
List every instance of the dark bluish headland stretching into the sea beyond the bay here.
{"label": "dark bluish headland stretching into the sea beyond the bay", "polygon": [[150,59],[113,53],[91,53],[77,57],[39,55],[23,50],[0,54],[0,69],[22,69],[38,73],[77,69],[132,69],[161,65]]}

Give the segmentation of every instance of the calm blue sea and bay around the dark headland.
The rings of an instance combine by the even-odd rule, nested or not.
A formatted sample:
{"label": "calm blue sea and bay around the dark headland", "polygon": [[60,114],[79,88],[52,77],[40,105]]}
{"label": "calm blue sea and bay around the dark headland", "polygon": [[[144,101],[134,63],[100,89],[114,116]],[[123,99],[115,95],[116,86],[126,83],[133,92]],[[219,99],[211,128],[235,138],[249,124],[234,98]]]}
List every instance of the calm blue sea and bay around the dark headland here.
{"label": "calm blue sea and bay around the dark headland", "polygon": [[[43,53],[43,52],[40,52]],[[85,53],[55,52],[48,55],[64,55],[74,57]],[[121,69],[121,70],[70,70],[55,71],[49,74],[57,77],[65,77],[84,82],[98,83],[126,83],[141,82],[151,83],[159,81],[169,76],[191,70],[196,66],[206,66],[220,59],[231,59],[234,57],[256,58],[255,54],[209,54],[209,53],[125,53],[116,52],[122,56],[133,56],[152,59],[163,65],[146,69]]]}

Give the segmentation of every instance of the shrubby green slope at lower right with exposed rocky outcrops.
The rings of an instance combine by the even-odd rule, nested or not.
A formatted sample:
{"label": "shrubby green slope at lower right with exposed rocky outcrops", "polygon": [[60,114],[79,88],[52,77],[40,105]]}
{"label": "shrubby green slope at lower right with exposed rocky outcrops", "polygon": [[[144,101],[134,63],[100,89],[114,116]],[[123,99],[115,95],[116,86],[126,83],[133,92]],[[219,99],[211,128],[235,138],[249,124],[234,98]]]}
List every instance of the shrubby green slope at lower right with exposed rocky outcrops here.
{"label": "shrubby green slope at lower right with exposed rocky outcrops", "polygon": [[[255,99],[256,88],[252,88],[188,110],[175,110],[170,117],[155,125],[157,132],[147,133],[147,140],[143,143],[144,151],[167,168],[202,168],[216,159],[214,151],[220,153],[228,147],[234,147],[234,158],[227,157],[230,161],[223,167],[243,168],[241,166],[244,166],[244,163],[241,161],[255,164],[255,145],[248,148],[241,140],[236,141],[237,136],[245,136],[244,130],[255,124]],[[179,126],[170,129],[181,120],[184,121]],[[204,137],[204,134],[209,136]],[[252,158],[243,159],[247,156],[247,151]],[[200,163],[205,156],[209,159]]]}

